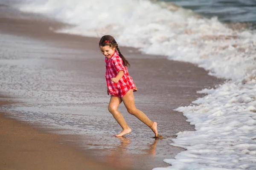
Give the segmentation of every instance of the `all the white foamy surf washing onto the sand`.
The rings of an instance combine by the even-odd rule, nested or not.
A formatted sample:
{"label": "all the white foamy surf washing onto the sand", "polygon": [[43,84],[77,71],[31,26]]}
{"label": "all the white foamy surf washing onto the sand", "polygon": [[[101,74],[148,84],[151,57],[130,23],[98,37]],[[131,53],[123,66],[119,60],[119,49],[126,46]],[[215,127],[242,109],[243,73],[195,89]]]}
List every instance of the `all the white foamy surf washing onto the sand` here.
{"label": "all the white foamy surf washing onto the sand", "polygon": [[192,105],[176,109],[196,131],[178,133],[171,145],[186,151],[175,159],[166,156],[164,161],[171,167],[154,170],[255,169],[255,30],[233,30],[215,17],[169,11],[146,0],[38,0],[19,8],[76,25],[58,32],[93,37],[112,34],[120,45],[192,62],[210,75],[229,79],[216,89],[199,91],[206,96]]}

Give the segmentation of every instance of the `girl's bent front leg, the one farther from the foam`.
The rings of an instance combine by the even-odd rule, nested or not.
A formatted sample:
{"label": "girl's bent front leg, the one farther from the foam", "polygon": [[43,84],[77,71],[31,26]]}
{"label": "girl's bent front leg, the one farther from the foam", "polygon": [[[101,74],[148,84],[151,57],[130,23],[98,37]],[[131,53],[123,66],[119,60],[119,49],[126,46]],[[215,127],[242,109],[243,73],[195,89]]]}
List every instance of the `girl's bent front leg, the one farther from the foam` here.
{"label": "girl's bent front leg, the one farther from the foam", "polygon": [[118,106],[122,102],[122,99],[117,96],[112,96],[108,105],[108,111],[114,116],[116,122],[122,127],[122,132],[116,135],[116,137],[124,136],[127,133],[131,133],[131,128],[125,122],[122,114],[117,110]]}

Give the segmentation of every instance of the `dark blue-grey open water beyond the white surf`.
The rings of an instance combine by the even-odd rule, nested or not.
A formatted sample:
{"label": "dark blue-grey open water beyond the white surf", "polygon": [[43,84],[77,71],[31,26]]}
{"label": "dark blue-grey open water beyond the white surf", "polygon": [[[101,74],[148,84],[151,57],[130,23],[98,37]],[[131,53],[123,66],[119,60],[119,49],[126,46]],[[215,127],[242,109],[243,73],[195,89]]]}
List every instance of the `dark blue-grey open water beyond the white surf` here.
{"label": "dark blue-grey open water beyond the white surf", "polygon": [[256,24],[256,0],[161,0],[192,9],[204,17],[225,23]]}

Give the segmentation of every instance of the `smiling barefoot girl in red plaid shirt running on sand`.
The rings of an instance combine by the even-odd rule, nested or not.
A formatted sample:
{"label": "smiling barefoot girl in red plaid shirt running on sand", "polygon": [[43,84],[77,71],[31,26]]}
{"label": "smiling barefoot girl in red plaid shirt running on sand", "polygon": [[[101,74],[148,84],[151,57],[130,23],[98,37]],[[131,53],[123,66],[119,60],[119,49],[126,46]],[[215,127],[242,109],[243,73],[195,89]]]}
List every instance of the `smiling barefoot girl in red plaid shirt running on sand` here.
{"label": "smiling barefoot girl in red plaid shirt running on sand", "polygon": [[136,116],[145,125],[150,127],[157,138],[157,122],[152,122],[142,111],[135,107],[133,92],[137,91],[137,88],[126,68],[130,64],[121,54],[116,40],[110,35],[105,35],[99,41],[99,48],[105,56],[107,93],[111,95],[108,111],[122,127],[122,132],[116,136],[119,137],[131,133],[131,128],[125,122],[122,114],[117,110],[120,103],[123,102],[128,113]]}

